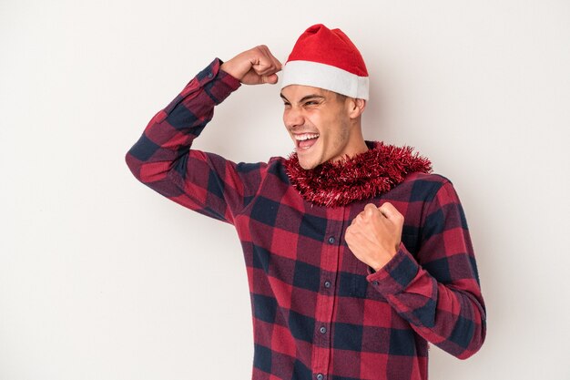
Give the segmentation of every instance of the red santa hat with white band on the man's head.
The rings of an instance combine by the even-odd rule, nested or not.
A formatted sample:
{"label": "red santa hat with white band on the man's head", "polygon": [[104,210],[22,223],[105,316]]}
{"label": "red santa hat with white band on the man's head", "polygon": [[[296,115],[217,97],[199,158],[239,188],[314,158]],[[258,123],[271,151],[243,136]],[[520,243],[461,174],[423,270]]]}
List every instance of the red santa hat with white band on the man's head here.
{"label": "red santa hat with white band on the man's head", "polygon": [[322,24],[303,33],[283,67],[281,88],[319,87],[351,98],[368,99],[368,71],[361,52],[341,29]]}

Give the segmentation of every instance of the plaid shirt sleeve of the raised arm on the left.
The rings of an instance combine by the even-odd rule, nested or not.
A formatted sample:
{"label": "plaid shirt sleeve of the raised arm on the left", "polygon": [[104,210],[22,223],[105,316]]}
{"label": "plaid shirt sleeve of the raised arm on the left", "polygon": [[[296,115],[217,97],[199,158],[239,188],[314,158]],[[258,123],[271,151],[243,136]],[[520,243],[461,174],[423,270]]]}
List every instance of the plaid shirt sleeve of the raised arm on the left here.
{"label": "plaid shirt sleeve of the raised arm on the left", "polygon": [[219,105],[239,86],[216,58],[150,120],[126,161],[142,183],[190,210],[234,222],[260,186],[265,164],[236,164],[190,149]]}

